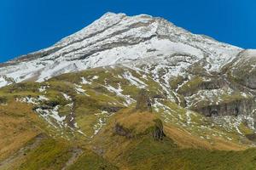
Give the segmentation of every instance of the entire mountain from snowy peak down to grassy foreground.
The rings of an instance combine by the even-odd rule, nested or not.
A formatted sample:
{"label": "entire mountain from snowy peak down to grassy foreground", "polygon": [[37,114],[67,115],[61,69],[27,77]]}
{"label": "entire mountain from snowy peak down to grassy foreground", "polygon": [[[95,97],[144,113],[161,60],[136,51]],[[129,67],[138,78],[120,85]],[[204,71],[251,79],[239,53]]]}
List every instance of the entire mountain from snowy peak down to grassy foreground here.
{"label": "entire mountain from snowy peak down to grassy foreground", "polygon": [[0,66],[0,169],[253,169],[256,50],[104,14]]}

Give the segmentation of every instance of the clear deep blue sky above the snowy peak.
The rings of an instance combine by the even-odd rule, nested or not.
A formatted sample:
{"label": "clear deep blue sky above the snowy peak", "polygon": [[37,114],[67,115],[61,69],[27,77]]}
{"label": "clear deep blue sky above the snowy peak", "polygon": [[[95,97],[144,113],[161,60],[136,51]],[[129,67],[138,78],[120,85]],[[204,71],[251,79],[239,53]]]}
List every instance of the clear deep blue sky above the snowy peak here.
{"label": "clear deep blue sky above the snowy peak", "polygon": [[189,31],[256,48],[255,0],[1,0],[0,62],[49,47],[108,11],[161,16]]}

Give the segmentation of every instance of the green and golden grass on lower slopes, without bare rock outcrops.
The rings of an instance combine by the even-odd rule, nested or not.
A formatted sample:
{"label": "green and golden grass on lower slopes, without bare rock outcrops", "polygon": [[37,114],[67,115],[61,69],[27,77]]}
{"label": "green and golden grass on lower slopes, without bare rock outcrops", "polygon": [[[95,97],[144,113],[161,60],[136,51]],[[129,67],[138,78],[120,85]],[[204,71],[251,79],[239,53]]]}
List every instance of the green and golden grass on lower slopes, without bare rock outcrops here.
{"label": "green and golden grass on lower slopes, without bare rock outcrops", "polygon": [[[129,69],[125,71],[130,71],[134,77],[148,84],[151,95],[165,96],[160,93],[162,88],[150,75],[146,75],[145,79],[141,73]],[[25,157],[16,161],[15,168],[61,169],[73,156],[73,149],[79,147],[83,153],[67,169],[253,169],[256,150],[245,150],[247,145],[241,143],[241,137],[236,131],[227,131],[218,126],[201,127],[210,127],[211,120],[198,113],[188,116],[187,110],[167,99],[158,100],[167,109],[160,104],[156,105],[154,113],[150,115],[134,114],[132,109],[121,110],[113,116],[100,115],[102,107],[125,107],[125,99],[108,91],[105,88],[108,85],[113,88],[120,86],[122,94],[136,99],[139,88],[120,78],[123,73],[124,70],[119,67],[107,70],[97,68],[65,74],[48,82],[25,82],[0,89],[3,104],[8,104],[0,105],[3,117],[0,121],[0,136],[3,137],[0,139],[0,160],[14,155],[39,133],[45,133],[47,139],[42,140],[35,150],[28,150]],[[95,75],[99,78],[94,79]],[[75,91],[74,84],[79,84],[81,77],[91,82],[81,85],[90,96]],[[38,91],[42,86],[49,86],[46,93]],[[185,88],[181,89],[185,92]],[[50,101],[58,101],[61,116],[68,116],[71,111],[66,105],[69,102],[61,92],[73,99],[75,121],[85,136],[68,128],[55,129],[48,126],[42,117],[32,111],[33,105],[15,102],[17,98],[45,95]],[[154,118],[160,118],[164,122],[167,137],[163,141],[155,141],[150,135],[143,133],[143,129],[152,125]],[[94,135],[100,119],[104,122],[102,130]],[[140,134],[139,137],[126,139],[113,134],[116,121],[130,128],[133,133]],[[242,129],[248,131],[247,127]],[[207,139],[208,136],[210,139]],[[246,143],[250,144],[249,141]]]}

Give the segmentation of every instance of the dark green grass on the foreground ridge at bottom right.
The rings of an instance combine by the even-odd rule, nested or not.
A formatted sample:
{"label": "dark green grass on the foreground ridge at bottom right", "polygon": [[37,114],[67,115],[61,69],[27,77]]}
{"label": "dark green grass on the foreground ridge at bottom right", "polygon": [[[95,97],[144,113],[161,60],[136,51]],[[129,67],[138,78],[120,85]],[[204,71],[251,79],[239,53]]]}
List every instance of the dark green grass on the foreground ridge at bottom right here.
{"label": "dark green grass on the foreground ridge at bottom right", "polygon": [[222,151],[180,149],[172,139],[157,142],[143,139],[124,159],[129,169],[187,169],[187,170],[253,170],[256,166],[256,150]]}

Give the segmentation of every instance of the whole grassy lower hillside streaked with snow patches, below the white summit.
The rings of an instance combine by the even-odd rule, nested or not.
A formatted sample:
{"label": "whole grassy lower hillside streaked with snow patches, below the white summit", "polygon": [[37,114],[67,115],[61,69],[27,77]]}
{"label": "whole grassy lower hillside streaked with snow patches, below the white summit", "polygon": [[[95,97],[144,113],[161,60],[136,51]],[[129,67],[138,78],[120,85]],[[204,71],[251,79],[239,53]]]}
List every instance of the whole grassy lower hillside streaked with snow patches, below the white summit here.
{"label": "whole grassy lower hillside streaked with snow patches, below the white summit", "polygon": [[[248,138],[253,129],[246,119],[190,111],[168,99],[150,75],[142,74],[112,66],[2,88],[2,168],[242,169],[243,164],[254,165],[256,151],[248,150],[254,145]],[[164,135],[153,135],[159,123]],[[236,163],[230,159],[233,156]]]}

